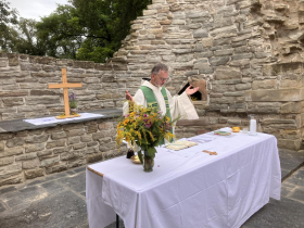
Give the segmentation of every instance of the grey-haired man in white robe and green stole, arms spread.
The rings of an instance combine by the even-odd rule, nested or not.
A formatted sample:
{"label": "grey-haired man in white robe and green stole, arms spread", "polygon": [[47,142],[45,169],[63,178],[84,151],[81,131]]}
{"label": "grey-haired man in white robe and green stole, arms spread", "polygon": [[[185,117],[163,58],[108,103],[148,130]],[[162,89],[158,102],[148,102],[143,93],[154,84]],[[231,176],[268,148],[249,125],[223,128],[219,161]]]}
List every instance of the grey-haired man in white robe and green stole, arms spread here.
{"label": "grey-haired man in white robe and green stole, arms spread", "polygon": [[[143,106],[157,106],[163,115],[170,119],[199,118],[198,113],[188,96],[199,90],[199,87],[189,86],[180,96],[172,97],[170,92],[164,87],[169,80],[168,67],[163,63],[157,63],[151,71],[151,78],[145,79],[135,96],[126,90],[126,99]],[[128,113],[128,102],[124,103],[124,114]]]}

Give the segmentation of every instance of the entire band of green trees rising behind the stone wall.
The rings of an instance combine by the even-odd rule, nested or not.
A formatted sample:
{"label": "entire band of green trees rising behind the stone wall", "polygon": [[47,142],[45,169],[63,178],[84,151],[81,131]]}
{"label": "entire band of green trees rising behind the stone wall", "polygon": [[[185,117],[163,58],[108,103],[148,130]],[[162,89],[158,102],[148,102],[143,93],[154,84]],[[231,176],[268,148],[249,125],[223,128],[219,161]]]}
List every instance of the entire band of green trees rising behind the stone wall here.
{"label": "entire band of green trees rising behind the stone wall", "polygon": [[[40,22],[21,18],[0,2],[1,51],[105,62],[121,48],[130,22],[152,0],[69,0]],[[15,26],[13,26],[15,25]]]}

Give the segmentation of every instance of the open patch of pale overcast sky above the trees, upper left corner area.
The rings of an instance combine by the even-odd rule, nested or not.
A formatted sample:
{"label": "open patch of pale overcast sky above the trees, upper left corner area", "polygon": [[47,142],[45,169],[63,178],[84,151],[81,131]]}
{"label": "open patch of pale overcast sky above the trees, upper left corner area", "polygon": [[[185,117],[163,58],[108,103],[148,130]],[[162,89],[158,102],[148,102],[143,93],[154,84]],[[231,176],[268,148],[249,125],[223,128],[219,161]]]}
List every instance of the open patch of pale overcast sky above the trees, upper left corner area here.
{"label": "open patch of pale overcast sky above the trees, upper left corner area", "polygon": [[41,16],[50,15],[56,9],[56,3],[68,3],[67,0],[7,0],[7,2],[11,2],[10,8],[18,11],[20,17],[36,21],[40,21]]}

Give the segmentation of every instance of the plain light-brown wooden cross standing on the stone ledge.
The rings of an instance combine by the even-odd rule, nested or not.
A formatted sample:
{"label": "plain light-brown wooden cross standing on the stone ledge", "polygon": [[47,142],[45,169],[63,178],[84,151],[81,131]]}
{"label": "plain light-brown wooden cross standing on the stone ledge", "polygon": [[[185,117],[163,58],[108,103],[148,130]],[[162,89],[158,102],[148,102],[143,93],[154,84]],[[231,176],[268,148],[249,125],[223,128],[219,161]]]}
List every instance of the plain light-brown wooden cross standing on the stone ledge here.
{"label": "plain light-brown wooden cross standing on the stone ledge", "polygon": [[68,103],[68,88],[83,87],[81,84],[68,84],[66,79],[66,68],[62,68],[62,84],[50,84],[49,89],[60,89],[63,88],[63,99],[64,99],[64,111],[65,115],[56,116],[56,118],[71,118],[79,117],[79,114],[69,115],[69,103]]}

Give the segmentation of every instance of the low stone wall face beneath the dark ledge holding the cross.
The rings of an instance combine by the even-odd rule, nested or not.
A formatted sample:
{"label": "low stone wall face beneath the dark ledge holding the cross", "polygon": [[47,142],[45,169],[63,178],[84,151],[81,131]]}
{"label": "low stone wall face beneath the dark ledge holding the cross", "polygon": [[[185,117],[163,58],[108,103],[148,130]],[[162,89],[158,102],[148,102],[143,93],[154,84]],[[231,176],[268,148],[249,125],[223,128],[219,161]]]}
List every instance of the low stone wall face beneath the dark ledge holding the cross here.
{"label": "low stone wall face beneath the dark ledge holding the cross", "polygon": [[0,134],[0,187],[122,155],[112,119]]}

